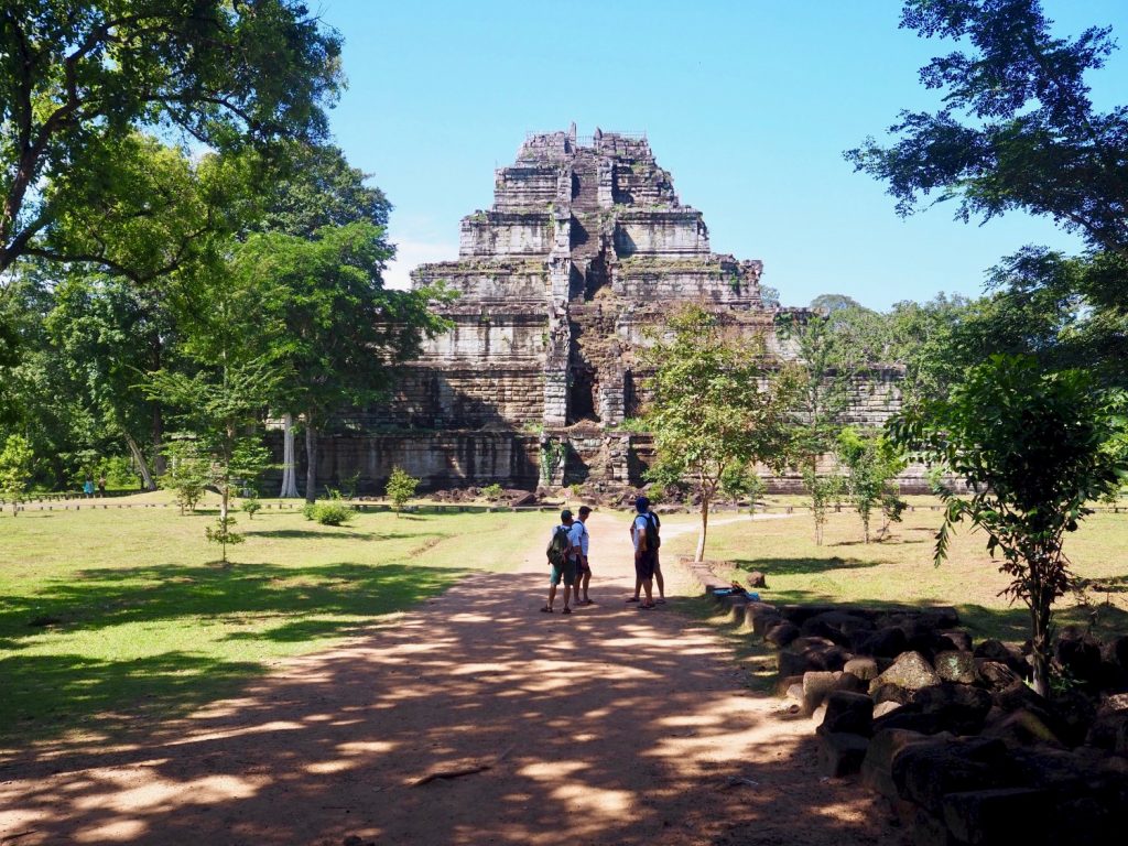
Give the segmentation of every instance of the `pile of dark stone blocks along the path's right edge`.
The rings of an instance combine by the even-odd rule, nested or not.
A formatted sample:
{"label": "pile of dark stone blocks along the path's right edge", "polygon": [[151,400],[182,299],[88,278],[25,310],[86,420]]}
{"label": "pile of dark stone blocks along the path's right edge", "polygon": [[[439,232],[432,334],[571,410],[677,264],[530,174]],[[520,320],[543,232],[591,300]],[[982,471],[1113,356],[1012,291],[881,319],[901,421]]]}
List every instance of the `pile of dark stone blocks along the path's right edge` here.
{"label": "pile of dark stone blocks along the path's right edge", "polygon": [[952,608],[772,606],[708,581],[779,650],[781,693],[818,723],[823,774],[861,773],[915,843],[1128,837],[1128,636],[1064,631],[1069,689],[1048,700],[1021,650],[973,643]]}

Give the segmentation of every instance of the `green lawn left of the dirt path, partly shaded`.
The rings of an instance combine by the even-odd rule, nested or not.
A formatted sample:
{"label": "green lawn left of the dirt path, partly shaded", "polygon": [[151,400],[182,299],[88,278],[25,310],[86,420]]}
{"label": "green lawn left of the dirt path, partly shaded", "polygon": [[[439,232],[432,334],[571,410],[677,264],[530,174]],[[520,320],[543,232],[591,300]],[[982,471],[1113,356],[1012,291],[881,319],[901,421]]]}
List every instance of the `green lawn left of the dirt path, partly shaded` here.
{"label": "green lawn left of the dirt path, partly shaded", "polygon": [[239,515],[247,541],[229,547],[226,567],[204,539],[213,519],[113,508],[0,517],[0,749],[232,694],[472,570],[513,566],[552,518],[372,513],[325,527],[263,510]]}

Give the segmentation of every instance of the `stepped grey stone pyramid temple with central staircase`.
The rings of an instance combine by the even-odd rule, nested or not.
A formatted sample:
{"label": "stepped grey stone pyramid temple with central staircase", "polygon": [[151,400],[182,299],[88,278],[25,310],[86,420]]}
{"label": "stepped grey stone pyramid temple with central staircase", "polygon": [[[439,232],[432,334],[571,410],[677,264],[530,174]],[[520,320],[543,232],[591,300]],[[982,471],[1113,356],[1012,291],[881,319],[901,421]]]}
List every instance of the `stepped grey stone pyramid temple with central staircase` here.
{"label": "stepped grey stone pyramid temple with central staircase", "polygon": [[[635,353],[680,302],[761,333],[786,355],[760,299],[758,261],[710,249],[702,213],[684,205],[644,135],[530,134],[495,174],[494,202],[461,221],[457,261],[425,264],[414,284],[458,298],[388,405],[323,439],[326,483],[360,470],[382,485],[393,465],[431,490],[500,483],[642,483],[646,435],[624,431],[644,402]],[[892,370],[860,385],[856,418],[896,402]]]}

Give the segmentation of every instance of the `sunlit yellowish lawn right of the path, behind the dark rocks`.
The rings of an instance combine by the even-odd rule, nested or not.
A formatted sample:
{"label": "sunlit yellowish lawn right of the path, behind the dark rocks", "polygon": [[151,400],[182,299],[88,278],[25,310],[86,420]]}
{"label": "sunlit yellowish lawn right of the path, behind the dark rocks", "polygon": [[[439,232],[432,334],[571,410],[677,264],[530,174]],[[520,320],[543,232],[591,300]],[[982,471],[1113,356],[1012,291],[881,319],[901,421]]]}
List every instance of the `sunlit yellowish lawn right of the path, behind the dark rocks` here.
{"label": "sunlit yellowish lawn right of the path, behind the dark rocks", "polygon": [[[1028,613],[998,596],[1007,579],[987,555],[984,534],[961,525],[949,561],[933,565],[942,515],[920,510],[926,502],[915,502],[917,510],[906,512],[880,544],[863,544],[857,515],[843,512],[829,515],[823,545],[816,546],[811,517],[801,513],[711,527],[705,557],[732,562],[728,575],[735,579],[741,571],[763,571],[768,589],[759,592],[768,602],[953,605],[979,636],[1025,640]],[[696,532],[682,535],[662,552],[691,555],[696,541]],[[1092,514],[1066,540],[1066,554],[1086,591],[1059,600],[1059,624],[1095,623],[1098,635],[1128,632],[1128,514]]]}

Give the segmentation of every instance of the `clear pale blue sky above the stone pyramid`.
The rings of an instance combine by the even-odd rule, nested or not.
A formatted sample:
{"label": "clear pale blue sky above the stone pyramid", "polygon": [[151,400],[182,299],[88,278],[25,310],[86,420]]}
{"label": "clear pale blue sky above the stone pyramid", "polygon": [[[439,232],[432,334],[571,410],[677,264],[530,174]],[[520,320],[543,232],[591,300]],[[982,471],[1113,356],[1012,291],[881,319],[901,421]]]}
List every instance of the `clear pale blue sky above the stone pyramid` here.
{"label": "clear pale blue sky above the stone pyramid", "polygon": [[[1128,47],[1125,0],[1046,0],[1058,34],[1110,25]],[[882,136],[935,92],[917,69],[950,45],[897,28],[897,0],[695,3],[320,0],[345,39],[349,90],[336,142],[395,205],[404,281],[453,258],[458,221],[492,202],[494,168],[527,131],[645,131],[713,249],[764,262],[787,306],[827,292],[871,308],[940,291],[977,294],[1025,244],[1076,238],[1012,214],[986,226],[940,206],[907,220],[843,150]],[[1108,107],[1128,91],[1128,50],[1091,73]]]}

